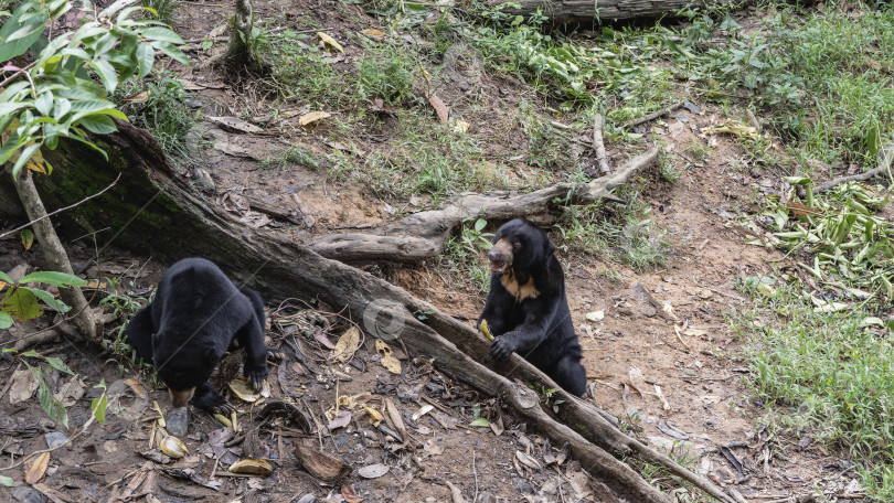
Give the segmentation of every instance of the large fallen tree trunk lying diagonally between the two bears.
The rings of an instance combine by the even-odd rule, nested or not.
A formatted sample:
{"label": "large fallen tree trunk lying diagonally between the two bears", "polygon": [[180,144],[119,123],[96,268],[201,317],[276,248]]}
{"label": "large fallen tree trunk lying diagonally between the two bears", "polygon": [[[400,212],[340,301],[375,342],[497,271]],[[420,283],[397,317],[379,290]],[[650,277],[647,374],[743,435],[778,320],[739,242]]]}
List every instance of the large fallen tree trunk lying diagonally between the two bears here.
{"label": "large fallen tree trunk lying diagonally between the two bears", "polygon": [[[260,290],[269,301],[318,298],[332,307],[348,307],[353,319],[363,320],[369,333],[400,338],[411,354],[434,357],[447,374],[487,395],[504,397],[504,404],[554,445],[570,442],[583,467],[628,501],[670,499],[615,456],[662,464],[720,501],[733,501],[711,481],[619,431],[590,403],[560,389],[554,397],[564,400],[558,406],[561,420],[552,417],[531,389],[557,386],[528,362],[513,355],[511,362],[496,367],[499,373],[485,366],[481,362],[488,362],[488,341],[470,327],[382,279],[324,258],[276,233],[244,226],[194,193],[148,133],[129,125],[119,128],[118,133],[104,138],[109,162],[97,159],[81,143],[68,142],[47,156],[55,170],[44,178],[53,183],[43,188],[45,200],[56,194],[61,195],[60,203],[66,203],[97,192],[125,171],[123,183],[76,210],[82,225],[86,220],[96,228],[109,227],[99,235],[105,236],[104,246],[156,252],[171,260],[200,255],[220,264],[236,281]],[[425,313],[421,317],[424,321],[417,318],[421,313]]]}

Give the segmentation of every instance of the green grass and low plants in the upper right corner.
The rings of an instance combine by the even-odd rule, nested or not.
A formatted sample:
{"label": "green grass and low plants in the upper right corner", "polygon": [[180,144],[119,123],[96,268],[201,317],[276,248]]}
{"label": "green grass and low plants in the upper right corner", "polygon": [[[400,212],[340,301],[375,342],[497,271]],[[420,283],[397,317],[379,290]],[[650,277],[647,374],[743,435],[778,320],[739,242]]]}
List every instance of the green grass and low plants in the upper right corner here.
{"label": "green grass and low plants in the upper right corner", "polygon": [[[768,7],[759,30],[744,32],[722,9],[692,20],[667,40],[682,73],[707,96],[744,90],[771,115],[776,133],[827,163],[873,163],[875,142],[894,131],[894,8],[834,2],[811,10]],[[724,96],[726,96],[724,98]]]}

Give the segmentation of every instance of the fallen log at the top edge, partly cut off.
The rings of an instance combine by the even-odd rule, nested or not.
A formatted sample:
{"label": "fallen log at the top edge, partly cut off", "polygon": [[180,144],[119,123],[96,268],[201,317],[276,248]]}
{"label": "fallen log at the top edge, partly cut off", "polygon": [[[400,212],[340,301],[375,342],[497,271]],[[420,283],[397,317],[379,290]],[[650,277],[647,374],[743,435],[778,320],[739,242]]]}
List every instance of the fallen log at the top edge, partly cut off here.
{"label": "fallen log at the top edge, partly cut off", "polygon": [[[687,6],[731,3],[730,0],[514,0],[519,9],[507,8],[504,12],[531,15],[540,9],[553,24],[581,23],[604,24],[621,19],[658,18],[673,13]],[[505,3],[504,0],[488,0],[488,7]]]}

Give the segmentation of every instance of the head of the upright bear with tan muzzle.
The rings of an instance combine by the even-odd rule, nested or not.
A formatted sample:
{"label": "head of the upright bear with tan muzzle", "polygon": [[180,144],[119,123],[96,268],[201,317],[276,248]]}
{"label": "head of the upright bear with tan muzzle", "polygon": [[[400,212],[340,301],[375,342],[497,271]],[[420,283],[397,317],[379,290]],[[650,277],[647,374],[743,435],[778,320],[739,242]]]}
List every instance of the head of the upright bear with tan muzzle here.
{"label": "head of the upright bear with tan muzzle", "polygon": [[493,236],[493,247],[488,252],[490,270],[500,275],[511,269],[528,272],[543,267],[553,252],[555,245],[546,233],[524,218],[515,218]]}

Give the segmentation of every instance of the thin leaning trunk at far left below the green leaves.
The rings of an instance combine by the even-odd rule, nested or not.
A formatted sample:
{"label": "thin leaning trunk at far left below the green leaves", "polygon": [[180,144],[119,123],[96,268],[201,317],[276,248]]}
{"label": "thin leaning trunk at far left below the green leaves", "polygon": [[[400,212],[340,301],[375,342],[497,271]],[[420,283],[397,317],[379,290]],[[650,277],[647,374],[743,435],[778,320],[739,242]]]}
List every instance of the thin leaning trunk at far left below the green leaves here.
{"label": "thin leaning trunk at far left below the green leaves", "polygon": [[[53,223],[47,218],[46,208],[38,194],[31,171],[23,169],[18,176],[12,179],[22,206],[32,222],[34,236],[43,249],[44,260],[50,270],[58,272],[74,274],[72,264],[68,261],[68,254],[62,246],[56,235]],[[58,296],[62,301],[72,308],[70,311],[77,329],[91,341],[102,344],[103,342],[103,320],[91,310],[84,292],[78,287],[60,288]]]}

